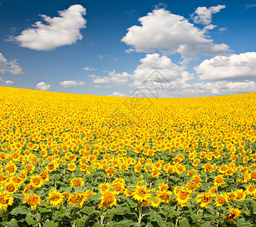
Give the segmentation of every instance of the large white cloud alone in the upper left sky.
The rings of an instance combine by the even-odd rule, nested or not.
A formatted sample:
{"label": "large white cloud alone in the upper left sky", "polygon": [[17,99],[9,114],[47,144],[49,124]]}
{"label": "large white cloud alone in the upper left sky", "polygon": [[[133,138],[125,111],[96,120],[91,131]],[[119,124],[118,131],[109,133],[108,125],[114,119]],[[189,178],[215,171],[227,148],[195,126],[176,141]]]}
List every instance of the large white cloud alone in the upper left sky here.
{"label": "large white cloud alone in the upper left sky", "polygon": [[20,36],[13,37],[20,46],[37,51],[51,51],[62,45],[71,45],[83,36],[80,29],[86,27],[86,9],[82,5],[71,5],[64,11],[58,11],[59,17],[41,15],[45,23],[37,21],[32,27],[23,30]]}

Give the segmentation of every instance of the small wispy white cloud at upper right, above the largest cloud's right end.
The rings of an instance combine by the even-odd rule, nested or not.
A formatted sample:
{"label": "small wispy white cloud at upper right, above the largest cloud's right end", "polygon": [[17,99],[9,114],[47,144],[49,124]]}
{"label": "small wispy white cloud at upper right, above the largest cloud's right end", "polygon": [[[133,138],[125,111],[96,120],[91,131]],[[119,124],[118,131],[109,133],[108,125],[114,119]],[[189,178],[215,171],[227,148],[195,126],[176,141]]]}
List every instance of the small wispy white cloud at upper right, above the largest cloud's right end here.
{"label": "small wispy white cloud at upper right, above the largest cloud's right end", "polygon": [[226,5],[217,5],[210,8],[206,8],[205,6],[198,7],[195,13],[192,14],[193,21],[194,23],[208,25],[211,23],[212,14],[220,12],[223,8],[226,8]]}

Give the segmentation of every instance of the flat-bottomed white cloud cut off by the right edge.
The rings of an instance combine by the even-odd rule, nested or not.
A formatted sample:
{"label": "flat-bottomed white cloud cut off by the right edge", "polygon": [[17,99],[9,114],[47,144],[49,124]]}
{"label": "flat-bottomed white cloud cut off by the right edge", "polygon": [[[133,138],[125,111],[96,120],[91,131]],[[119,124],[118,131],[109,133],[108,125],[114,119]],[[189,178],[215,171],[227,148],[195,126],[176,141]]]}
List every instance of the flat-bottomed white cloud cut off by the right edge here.
{"label": "flat-bottomed white cloud cut off by the right edge", "polygon": [[204,60],[195,71],[200,79],[241,81],[256,80],[256,52],[232,54],[229,57],[216,56]]}

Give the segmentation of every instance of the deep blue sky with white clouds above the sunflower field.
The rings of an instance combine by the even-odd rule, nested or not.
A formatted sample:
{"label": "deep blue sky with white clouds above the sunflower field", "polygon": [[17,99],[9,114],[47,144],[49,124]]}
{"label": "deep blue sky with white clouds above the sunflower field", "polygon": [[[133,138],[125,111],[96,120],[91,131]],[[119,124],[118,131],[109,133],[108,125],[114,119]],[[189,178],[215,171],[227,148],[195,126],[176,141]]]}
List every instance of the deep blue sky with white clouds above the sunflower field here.
{"label": "deep blue sky with white clouds above the sunflower field", "polygon": [[256,90],[256,1],[0,0],[0,86],[199,97]]}

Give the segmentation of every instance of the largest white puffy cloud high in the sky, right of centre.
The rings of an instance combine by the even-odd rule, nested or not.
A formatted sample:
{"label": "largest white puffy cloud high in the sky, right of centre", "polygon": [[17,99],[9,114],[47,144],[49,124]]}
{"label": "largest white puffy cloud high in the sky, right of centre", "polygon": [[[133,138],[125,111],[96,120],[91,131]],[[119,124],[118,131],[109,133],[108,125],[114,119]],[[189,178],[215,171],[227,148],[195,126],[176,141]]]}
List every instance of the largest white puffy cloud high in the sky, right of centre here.
{"label": "largest white puffy cloud high in the sky, right of centre", "polygon": [[179,53],[183,58],[195,59],[197,54],[216,56],[229,51],[228,45],[207,39],[205,30],[199,30],[183,16],[163,8],[140,17],[139,22],[142,26],[131,26],[122,39],[139,52]]}

